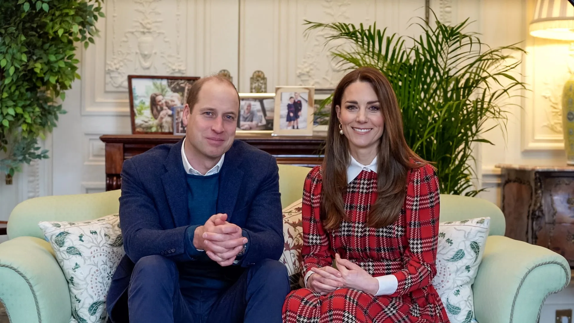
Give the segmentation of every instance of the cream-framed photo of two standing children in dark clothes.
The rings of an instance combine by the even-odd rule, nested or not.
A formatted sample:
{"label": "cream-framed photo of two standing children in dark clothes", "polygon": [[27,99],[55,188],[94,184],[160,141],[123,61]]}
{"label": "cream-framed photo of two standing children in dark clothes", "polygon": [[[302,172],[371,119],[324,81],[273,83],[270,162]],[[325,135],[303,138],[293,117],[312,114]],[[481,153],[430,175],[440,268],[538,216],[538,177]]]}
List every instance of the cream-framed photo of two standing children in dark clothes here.
{"label": "cream-framed photo of two standing children in dark clothes", "polygon": [[273,136],[312,136],[314,96],[314,86],[277,86]]}

